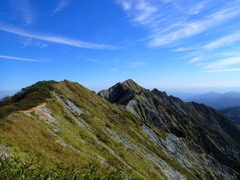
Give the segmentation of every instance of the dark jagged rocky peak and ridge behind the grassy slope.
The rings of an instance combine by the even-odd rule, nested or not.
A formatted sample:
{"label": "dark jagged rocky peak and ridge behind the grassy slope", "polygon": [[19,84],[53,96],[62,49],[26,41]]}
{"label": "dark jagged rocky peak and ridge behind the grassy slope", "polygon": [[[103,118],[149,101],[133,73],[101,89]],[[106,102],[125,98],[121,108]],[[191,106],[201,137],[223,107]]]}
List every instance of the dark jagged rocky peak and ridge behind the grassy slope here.
{"label": "dark jagged rocky peak and ridge behind the grassy slope", "polygon": [[[240,168],[240,128],[216,110],[198,103],[185,103],[157,89],[149,91],[132,80],[118,83],[106,92],[109,98],[105,99],[120,108],[177,139],[191,139],[219,163],[236,171]],[[179,152],[176,150],[176,153]]]}

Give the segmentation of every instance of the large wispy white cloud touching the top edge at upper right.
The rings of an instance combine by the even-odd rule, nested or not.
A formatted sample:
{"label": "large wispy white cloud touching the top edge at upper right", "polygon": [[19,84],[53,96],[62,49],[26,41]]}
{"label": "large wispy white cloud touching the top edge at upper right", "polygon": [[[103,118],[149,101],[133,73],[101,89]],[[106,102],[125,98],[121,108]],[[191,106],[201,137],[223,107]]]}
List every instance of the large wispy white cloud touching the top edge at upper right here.
{"label": "large wispy white cloud touching the top edge at upper right", "polygon": [[132,22],[150,28],[151,34],[145,40],[151,47],[172,44],[206,32],[240,15],[239,0],[221,2],[221,8],[216,6],[217,3],[215,7],[209,0],[201,2],[116,0],[116,2],[122,6]]}

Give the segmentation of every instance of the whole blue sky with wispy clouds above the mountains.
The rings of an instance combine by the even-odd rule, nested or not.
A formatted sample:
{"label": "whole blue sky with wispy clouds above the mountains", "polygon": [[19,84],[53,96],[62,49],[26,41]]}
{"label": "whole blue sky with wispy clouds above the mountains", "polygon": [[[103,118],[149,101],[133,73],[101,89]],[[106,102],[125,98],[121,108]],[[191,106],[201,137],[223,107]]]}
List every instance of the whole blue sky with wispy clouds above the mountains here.
{"label": "whole blue sky with wispy clouds above the mountains", "polygon": [[133,79],[169,91],[240,89],[240,0],[2,0],[0,91]]}

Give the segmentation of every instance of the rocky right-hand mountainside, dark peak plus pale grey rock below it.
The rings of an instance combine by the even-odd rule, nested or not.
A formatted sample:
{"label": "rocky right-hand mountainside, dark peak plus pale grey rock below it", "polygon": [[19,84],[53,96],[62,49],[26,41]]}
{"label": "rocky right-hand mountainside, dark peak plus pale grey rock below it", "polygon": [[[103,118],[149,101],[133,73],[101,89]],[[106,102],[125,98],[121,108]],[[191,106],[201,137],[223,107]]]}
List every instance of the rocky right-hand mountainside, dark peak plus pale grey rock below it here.
{"label": "rocky right-hand mountainside, dark peak plus pale grey rock below it", "polygon": [[157,89],[149,91],[132,80],[99,95],[167,132],[164,140],[148,126],[141,127],[183,167],[204,170],[214,179],[240,178],[240,127],[218,111]]}

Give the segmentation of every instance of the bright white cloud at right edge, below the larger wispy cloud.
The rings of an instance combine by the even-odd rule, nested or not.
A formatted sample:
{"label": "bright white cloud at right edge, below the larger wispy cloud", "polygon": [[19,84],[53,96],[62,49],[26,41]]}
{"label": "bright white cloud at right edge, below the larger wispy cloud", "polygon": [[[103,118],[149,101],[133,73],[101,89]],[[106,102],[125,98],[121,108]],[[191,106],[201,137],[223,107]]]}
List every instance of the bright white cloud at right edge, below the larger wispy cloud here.
{"label": "bright white cloud at right edge, below the larger wispy cloud", "polygon": [[[199,63],[199,61],[204,61],[205,66],[203,68],[213,69],[208,70],[207,72],[224,72],[222,69],[230,65],[240,65],[240,51],[238,47],[230,46],[236,42],[240,41],[240,33],[233,33],[224,37],[221,37],[217,40],[211,41],[208,44],[205,44],[201,47],[191,51],[188,55],[183,58],[190,59],[189,63]],[[218,48],[224,47],[220,51]],[[187,48],[186,48],[187,49]],[[181,52],[181,51],[175,51]],[[218,69],[218,70],[216,70]],[[236,68],[232,68],[233,69]],[[230,69],[228,68],[228,70]],[[206,71],[203,71],[206,72]]]}

